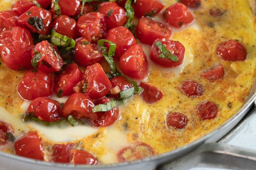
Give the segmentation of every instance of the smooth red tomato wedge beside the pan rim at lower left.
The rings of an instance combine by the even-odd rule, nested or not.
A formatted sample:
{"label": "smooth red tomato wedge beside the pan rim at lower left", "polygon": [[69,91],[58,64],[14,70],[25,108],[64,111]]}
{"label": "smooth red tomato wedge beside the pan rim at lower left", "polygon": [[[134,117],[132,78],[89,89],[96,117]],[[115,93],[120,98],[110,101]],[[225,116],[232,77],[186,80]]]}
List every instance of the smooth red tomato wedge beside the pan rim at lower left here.
{"label": "smooth red tomato wedge beside the pan rim at lower left", "polygon": [[16,140],[14,149],[16,155],[44,160],[44,153],[37,132],[28,132]]}

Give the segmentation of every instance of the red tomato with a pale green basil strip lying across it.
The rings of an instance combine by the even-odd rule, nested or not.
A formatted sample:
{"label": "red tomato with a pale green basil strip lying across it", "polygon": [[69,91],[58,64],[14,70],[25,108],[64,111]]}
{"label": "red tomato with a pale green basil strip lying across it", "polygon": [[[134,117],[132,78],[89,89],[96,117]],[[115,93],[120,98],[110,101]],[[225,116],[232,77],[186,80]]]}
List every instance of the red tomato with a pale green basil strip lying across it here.
{"label": "red tomato with a pale green basil strip lying across it", "polygon": [[[96,104],[104,104],[110,101],[109,98],[101,98]],[[92,120],[94,126],[109,126],[112,125],[119,117],[119,109],[115,107],[106,112],[96,112],[97,119]]]}

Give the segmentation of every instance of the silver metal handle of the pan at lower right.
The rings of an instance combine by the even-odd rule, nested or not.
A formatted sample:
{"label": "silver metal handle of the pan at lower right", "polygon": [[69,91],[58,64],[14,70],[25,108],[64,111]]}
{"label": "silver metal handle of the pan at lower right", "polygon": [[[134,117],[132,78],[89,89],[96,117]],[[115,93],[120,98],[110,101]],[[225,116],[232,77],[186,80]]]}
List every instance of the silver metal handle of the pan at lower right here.
{"label": "silver metal handle of the pan at lower right", "polygon": [[167,162],[156,169],[180,170],[193,167],[255,170],[256,151],[224,143],[205,143],[182,159]]}

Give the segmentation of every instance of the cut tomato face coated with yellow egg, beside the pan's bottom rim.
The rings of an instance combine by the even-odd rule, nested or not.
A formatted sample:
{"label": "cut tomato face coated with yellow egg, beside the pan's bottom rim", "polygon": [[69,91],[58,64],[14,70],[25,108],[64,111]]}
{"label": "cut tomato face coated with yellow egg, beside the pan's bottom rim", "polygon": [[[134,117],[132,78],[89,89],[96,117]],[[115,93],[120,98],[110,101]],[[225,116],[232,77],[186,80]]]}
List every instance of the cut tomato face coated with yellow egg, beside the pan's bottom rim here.
{"label": "cut tomato face coated with yellow egg, beside the pan's bottom rim", "polygon": [[151,146],[146,143],[137,142],[121,149],[117,154],[117,158],[119,162],[125,162],[146,158],[154,154]]}

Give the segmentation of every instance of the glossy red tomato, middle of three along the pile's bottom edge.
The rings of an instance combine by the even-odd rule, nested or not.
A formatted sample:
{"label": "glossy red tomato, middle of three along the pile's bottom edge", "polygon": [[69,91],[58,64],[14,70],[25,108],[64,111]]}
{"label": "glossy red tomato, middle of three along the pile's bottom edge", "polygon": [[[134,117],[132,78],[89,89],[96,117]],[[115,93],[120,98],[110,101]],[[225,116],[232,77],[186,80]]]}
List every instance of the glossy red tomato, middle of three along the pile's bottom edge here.
{"label": "glossy red tomato, middle of three along the pile's bottom edge", "polygon": [[96,114],[92,113],[93,107],[94,103],[91,98],[83,93],[76,92],[69,96],[68,100],[62,106],[60,115],[68,117],[68,115],[72,114],[75,119],[81,119],[83,117],[96,119]]}

